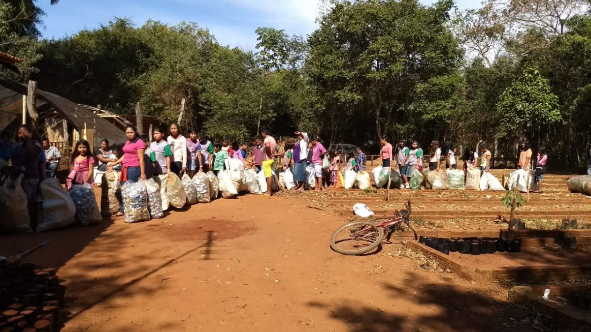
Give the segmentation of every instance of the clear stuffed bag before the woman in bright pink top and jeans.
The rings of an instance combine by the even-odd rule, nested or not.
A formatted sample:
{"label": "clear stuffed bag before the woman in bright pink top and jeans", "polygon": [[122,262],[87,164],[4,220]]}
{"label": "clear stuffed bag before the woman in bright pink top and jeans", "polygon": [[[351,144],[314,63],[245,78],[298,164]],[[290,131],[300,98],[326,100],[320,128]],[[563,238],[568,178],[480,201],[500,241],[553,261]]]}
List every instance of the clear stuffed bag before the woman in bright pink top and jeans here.
{"label": "clear stuffed bag before the woman in bright pink top and jeans", "polygon": [[148,193],[144,180],[138,182],[126,181],[121,186],[123,197],[123,211],[126,223],[137,223],[150,220],[148,210]]}

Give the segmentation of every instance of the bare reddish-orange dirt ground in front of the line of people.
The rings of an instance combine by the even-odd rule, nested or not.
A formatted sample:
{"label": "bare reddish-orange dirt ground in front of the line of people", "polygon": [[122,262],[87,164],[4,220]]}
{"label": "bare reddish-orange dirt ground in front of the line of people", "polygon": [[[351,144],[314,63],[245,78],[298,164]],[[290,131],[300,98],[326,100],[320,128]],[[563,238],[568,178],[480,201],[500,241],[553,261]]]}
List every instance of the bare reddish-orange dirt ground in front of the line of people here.
{"label": "bare reddish-orange dirt ground in front of the line of people", "polygon": [[58,232],[3,237],[59,267],[69,290],[62,331],[530,331],[497,285],[430,272],[385,245],[330,250],[344,220],[287,197],[243,196]]}

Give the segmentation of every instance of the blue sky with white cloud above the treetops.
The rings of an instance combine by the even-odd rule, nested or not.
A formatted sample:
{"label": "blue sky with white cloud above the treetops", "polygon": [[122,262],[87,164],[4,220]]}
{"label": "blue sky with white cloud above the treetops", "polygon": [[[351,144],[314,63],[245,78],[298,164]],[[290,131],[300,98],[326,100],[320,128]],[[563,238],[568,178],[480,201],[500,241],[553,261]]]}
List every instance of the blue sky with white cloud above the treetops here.
{"label": "blue sky with white cloud above the treetops", "polygon": [[[432,0],[421,0],[425,4]],[[456,0],[460,8],[479,6],[479,0]],[[197,22],[225,45],[252,50],[255,29],[273,27],[287,34],[316,30],[319,0],[37,0],[47,16],[43,37],[60,38],[83,28],[108,24],[113,17],[129,17],[141,25],[147,19],[177,24]]]}

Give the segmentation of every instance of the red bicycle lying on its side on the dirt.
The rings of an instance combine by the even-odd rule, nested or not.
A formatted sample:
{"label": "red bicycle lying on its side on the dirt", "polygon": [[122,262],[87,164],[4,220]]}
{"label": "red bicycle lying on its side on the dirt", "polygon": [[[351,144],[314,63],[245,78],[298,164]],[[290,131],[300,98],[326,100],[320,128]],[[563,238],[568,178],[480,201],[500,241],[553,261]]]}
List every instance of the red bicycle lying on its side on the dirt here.
{"label": "red bicycle lying on its side on the dirt", "polygon": [[340,226],[330,236],[330,248],[343,255],[362,255],[377,248],[384,236],[388,237],[395,230],[402,229],[402,223],[406,224],[418,239],[417,232],[408,222],[411,213],[410,200],[405,204],[405,210],[394,210],[394,216],[383,219],[385,214],[378,219],[357,220]]}

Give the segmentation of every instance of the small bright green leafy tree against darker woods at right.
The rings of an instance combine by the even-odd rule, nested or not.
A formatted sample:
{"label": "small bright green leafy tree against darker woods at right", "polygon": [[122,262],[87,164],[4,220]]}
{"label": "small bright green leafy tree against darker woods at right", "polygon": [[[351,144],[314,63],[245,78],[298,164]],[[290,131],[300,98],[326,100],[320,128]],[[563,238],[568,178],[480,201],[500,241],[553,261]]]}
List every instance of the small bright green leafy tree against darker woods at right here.
{"label": "small bright green leafy tree against darker woods at right", "polygon": [[541,126],[559,122],[558,97],[552,93],[548,80],[537,69],[527,67],[521,77],[499,97],[497,104],[502,125],[509,131],[527,135]]}

